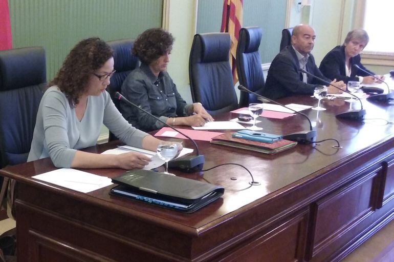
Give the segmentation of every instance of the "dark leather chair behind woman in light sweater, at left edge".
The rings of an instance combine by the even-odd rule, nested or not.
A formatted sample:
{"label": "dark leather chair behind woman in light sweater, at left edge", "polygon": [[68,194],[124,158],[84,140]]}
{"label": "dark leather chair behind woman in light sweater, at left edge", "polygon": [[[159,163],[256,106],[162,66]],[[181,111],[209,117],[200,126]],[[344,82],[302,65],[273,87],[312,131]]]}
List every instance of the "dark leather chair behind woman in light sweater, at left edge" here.
{"label": "dark leather chair behind woman in light sweater, at left edge", "polygon": [[26,162],[46,82],[43,48],[0,51],[1,167]]}

